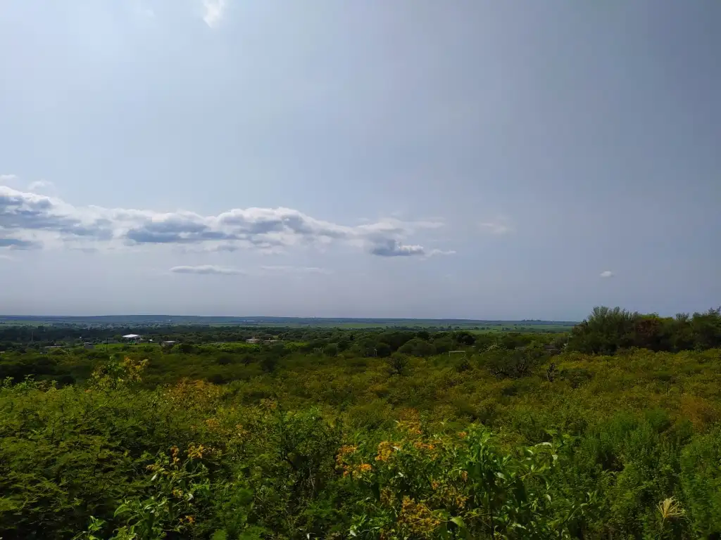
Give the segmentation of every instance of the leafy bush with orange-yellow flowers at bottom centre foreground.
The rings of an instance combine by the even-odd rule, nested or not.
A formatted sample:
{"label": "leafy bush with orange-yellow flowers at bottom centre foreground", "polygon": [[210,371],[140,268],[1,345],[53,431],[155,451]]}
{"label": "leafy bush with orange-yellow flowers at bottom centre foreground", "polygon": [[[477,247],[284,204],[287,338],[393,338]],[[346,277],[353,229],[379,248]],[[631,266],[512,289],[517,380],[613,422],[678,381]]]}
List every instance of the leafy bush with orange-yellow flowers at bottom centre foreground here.
{"label": "leafy bush with orange-yellow flowers at bottom centre foreground", "polygon": [[366,490],[356,505],[352,536],[364,539],[572,538],[594,505],[558,499],[552,444],[504,451],[476,426],[455,434],[425,434],[400,426],[381,441],[373,467],[362,450],[342,454],[350,482]]}

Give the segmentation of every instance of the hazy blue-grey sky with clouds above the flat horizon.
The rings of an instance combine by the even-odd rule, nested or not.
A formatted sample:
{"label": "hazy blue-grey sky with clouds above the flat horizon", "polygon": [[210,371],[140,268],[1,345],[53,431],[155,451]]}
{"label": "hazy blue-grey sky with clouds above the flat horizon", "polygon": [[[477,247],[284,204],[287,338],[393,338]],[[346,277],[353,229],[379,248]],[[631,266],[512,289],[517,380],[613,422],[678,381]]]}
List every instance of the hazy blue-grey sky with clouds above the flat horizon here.
{"label": "hazy blue-grey sky with clouds above the flat horizon", "polygon": [[715,0],[4,0],[0,313],[721,305]]}

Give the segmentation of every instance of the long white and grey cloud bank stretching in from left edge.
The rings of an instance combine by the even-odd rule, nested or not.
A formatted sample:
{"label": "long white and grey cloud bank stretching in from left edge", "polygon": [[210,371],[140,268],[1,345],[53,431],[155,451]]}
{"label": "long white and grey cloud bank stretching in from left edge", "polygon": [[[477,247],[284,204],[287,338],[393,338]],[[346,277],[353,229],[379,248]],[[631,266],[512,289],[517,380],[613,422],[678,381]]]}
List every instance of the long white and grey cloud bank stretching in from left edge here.
{"label": "long white and grey cloud bank stretching in from left edge", "polygon": [[0,247],[133,248],[182,245],[203,251],[252,248],[279,252],[293,246],[322,248],[347,243],[377,256],[428,256],[410,235],[443,226],[440,221],[385,219],[362,225],[319,220],[291,208],[233,209],[218,215],[195,212],[75,207],[56,197],[0,186]]}

